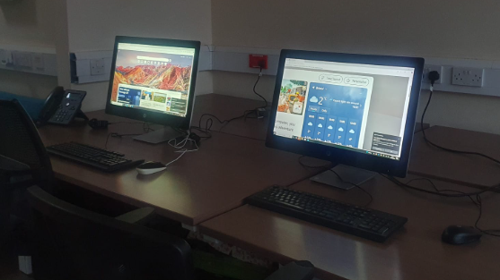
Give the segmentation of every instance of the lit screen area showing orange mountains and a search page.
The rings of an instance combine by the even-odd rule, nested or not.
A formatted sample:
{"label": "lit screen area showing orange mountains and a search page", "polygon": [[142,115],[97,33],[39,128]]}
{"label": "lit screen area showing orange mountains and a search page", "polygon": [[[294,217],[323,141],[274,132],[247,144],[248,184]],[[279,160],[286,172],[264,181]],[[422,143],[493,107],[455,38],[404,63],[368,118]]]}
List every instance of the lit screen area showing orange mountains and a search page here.
{"label": "lit screen area showing orange mountains and a search page", "polygon": [[194,48],[118,43],[111,104],[185,117]]}

